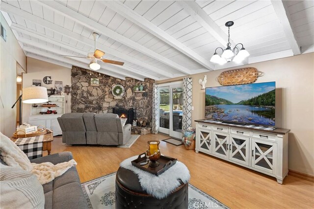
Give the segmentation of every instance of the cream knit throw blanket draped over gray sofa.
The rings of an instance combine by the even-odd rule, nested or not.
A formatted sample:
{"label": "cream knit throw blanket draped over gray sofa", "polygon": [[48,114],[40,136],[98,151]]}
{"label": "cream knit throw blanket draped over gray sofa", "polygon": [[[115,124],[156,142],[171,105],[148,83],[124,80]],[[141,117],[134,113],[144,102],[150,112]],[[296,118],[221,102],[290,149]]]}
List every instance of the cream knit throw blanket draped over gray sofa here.
{"label": "cream knit throw blanket draped over gray sofa", "polygon": [[54,178],[61,176],[73,165],[76,165],[75,160],[69,162],[58,163],[56,165],[46,163],[30,163],[26,154],[8,137],[0,132],[0,152],[1,159],[9,166],[22,168],[30,171],[37,176],[40,184],[51,182]]}

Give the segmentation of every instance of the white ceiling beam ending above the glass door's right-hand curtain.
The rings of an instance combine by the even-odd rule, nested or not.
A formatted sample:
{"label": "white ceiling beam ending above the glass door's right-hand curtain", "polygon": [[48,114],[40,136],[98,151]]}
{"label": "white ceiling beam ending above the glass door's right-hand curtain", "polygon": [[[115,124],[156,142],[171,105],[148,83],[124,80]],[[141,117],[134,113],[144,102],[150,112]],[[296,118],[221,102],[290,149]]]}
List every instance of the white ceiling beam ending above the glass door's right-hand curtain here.
{"label": "white ceiling beam ending above the glass door's right-hand curtain", "polygon": [[184,74],[190,74],[190,70],[185,68],[184,66],[156,53],[155,51],[146,48],[145,46],[142,46],[136,42],[134,42],[133,40],[115,32],[114,30],[111,30],[110,28],[106,27],[105,25],[98,23],[92,19],[89,19],[88,17],[79,14],[78,12],[74,11],[73,9],[57,2],[57,1],[47,1],[47,0],[39,0],[37,1],[38,3],[40,3],[43,6],[46,6],[48,8],[50,8],[52,11],[57,12],[71,20],[74,20],[77,23],[80,23],[92,30],[94,30],[97,33],[100,34],[104,34],[105,36],[120,42],[121,44],[124,44],[128,47],[131,47],[155,60],[157,60],[158,62],[164,63],[168,66],[170,66],[171,68],[181,71]]}

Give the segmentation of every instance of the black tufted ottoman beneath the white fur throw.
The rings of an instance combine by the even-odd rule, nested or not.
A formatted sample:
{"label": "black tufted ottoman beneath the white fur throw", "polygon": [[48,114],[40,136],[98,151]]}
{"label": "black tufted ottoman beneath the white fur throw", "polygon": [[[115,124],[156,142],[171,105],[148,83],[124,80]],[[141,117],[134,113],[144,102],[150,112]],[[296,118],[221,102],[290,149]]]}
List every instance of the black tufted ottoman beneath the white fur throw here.
{"label": "black tufted ottoman beneath the white fur throw", "polygon": [[164,199],[156,199],[141,187],[138,176],[120,167],[116,175],[116,209],[187,209],[188,184],[181,184]]}

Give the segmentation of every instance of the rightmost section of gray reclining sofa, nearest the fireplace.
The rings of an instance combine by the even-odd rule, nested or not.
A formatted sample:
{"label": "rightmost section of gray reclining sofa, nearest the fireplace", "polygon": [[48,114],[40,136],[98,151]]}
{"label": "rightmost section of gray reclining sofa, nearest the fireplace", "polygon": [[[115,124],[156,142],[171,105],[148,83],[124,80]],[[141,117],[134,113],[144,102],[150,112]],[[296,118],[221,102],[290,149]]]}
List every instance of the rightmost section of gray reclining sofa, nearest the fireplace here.
{"label": "rightmost section of gray reclining sofa, nearest the fireplace", "polygon": [[131,124],[122,126],[121,118],[116,114],[105,113],[94,116],[97,128],[97,144],[120,145],[131,138]]}

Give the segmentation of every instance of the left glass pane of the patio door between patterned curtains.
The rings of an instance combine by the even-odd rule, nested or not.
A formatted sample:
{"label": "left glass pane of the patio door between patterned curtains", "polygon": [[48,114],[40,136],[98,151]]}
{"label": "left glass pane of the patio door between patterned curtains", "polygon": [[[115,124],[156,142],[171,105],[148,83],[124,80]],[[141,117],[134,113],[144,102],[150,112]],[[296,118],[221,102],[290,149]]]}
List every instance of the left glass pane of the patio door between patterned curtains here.
{"label": "left glass pane of the patio door between patterned curtains", "polygon": [[169,87],[159,89],[159,127],[169,129]]}

